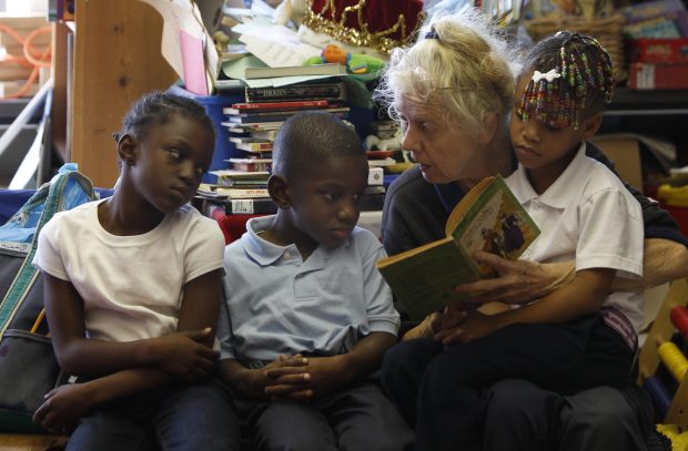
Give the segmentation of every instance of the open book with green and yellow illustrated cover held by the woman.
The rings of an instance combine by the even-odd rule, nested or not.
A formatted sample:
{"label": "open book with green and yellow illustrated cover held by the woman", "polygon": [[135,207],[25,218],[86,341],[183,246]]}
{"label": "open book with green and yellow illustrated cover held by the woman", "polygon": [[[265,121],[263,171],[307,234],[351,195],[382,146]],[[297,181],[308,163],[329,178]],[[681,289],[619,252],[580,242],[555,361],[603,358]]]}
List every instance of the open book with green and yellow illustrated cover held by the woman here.
{"label": "open book with green and yellow illustrated cover held by the woman", "polygon": [[397,300],[413,319],[468,300],[458,284],[493,276],[472,255],[478,250],[516,259],[539,234],[537,225],[499,176],[487,177],[456,205],[446,237],[377,262]]}

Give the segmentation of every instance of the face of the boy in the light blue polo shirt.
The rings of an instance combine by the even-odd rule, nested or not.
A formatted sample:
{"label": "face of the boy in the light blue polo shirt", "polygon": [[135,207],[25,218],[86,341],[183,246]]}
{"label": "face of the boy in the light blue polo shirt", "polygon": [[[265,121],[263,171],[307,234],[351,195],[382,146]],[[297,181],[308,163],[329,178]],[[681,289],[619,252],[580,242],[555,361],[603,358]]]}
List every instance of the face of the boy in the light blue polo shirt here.
{"label": "face of the boy in the light blue polo shirt", "polygon": [[306,163],[289,182],[292,223],[322,246],[341,246],[358,222],[367,178],[365,155]]}

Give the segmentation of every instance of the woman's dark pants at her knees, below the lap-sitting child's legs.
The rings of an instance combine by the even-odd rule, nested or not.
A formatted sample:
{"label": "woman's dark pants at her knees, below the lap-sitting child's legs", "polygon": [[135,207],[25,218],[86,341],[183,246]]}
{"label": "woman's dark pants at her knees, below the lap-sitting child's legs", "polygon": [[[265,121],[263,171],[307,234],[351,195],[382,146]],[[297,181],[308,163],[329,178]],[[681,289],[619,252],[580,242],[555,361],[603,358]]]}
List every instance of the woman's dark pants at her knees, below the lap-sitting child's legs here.
{"label": "woman's dark pants at her knees, below the lap-sitting child's legs", "polygon": [[561,396],[526,380],[502,380],[487,391],[483,449],[647,450],[638,420],[644,412],[636,411],[628,394],[633,390],[603,386]]}

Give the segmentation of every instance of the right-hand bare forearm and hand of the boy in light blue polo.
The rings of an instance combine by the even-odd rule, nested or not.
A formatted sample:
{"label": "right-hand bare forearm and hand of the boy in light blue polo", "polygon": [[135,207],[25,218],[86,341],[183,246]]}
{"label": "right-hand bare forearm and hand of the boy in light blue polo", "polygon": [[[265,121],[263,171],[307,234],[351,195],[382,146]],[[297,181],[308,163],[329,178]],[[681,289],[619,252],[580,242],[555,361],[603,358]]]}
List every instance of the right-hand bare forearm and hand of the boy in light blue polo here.
{"label": "right-hand bare forearm and hand of the boy in light blue polo", "polygon": [[[387,332],[371,332],[358,340],[346,353],[332,357],[308,357],[303,368],[306,387],[312,397],[320,397],[348,382],[361,379],[380,368],[385,351],[396,342],[396,337]],[[294,368],[266,369],[266,376],[274,382],[265,388],[265,393],[274,396],[282,389],[286,378],[294,377]]]}

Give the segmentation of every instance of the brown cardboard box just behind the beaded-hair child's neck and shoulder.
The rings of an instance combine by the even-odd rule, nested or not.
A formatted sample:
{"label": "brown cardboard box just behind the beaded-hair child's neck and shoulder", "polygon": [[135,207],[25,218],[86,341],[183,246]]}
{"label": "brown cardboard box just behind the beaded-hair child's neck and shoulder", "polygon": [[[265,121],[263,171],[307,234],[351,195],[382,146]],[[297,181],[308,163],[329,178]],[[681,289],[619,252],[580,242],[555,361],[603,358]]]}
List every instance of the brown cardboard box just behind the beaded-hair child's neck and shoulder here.
{"label": "brown cardboard box just behind the beaded-hair child's neck and shoulder", "polygon": [[597,135],[590,141],[614,162],[616,172],[624,182],[643,191],[643,163],[638,140]]}

